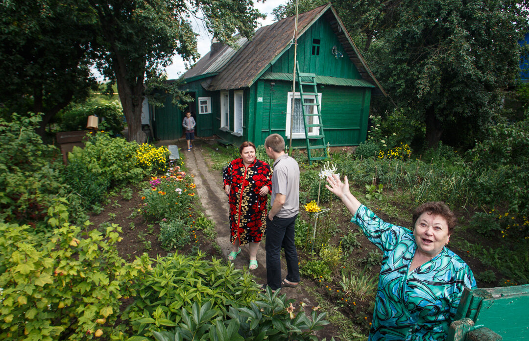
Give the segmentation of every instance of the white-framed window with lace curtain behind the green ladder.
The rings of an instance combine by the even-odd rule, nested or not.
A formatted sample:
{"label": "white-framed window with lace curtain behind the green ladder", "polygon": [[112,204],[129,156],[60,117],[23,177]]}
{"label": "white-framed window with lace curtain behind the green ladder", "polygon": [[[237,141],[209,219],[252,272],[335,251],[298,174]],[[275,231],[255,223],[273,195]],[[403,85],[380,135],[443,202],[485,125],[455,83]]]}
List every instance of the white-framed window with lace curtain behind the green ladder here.
{"label": "white-framed window with lace curtain behind the green ladder", "polygon": [[[286,132],[285,135],[287,138],[290,138],[290,113],[292,112],[291,106],[292,106],[292,93],[288,93],[288,101],[287,101],[287,124],[286,124]],[[303,100],[305,103],[315,103],[316,96],[314,95],[306,95],[303,96]],[[320,101],[320,110],[322,106],[322,94],[318,94],[318,100]],[[316,106],[315,105],[305,105],[305,112],[306,113],[316,113]],[[318,119],[318,116],[307,116],[306,118],[307,124],[318,124],[320,123],[320,120]],[[303,110],[301,107],[301,96],[297,92],[294,96],[294,120],[292,121],[292,138],[293,139],[304,139],[305,138],[305,125],[303,124]],[[320,134],[320,127],[309,127],[308,128],[308,136],[315,136]]]}

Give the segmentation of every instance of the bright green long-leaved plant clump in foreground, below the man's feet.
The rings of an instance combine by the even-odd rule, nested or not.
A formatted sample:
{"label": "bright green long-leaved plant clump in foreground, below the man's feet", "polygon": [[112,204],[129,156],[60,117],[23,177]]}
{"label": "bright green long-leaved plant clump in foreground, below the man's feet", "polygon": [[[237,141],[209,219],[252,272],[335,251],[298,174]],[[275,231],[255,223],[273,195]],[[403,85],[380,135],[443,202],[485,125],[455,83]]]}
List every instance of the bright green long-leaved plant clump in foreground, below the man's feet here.
{"label": "bright green long-leaved plant clump in foreground, below the man's feet", "polygon": [[193,316],[193,303],[211,302],[218,315],[226,316],[230,307],[247,306],[257,297],[258,288],[249,273],[222,265],[220,259],[206,261],[196,257],[172,255],[156,260],[152,271],[145,272],[134,284],[138,293],[126,309],[136,335],[175,327],[185,322],[184,311]]}

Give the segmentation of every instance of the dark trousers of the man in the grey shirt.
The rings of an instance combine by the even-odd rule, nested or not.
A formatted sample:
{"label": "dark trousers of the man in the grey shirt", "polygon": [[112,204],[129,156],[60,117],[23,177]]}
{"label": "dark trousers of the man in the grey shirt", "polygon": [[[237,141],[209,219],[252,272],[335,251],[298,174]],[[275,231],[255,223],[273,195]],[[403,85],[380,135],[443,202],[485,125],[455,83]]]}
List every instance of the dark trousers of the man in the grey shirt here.
{"label": "dark trousers of the man in the grey shirt", "polygon": [[285,249],[287,281],[299,282],[299,265],[294,243],[294,225],[297,214],[291,218],[266,219],[266,275],[272,290],[281,288],[281,247]]}

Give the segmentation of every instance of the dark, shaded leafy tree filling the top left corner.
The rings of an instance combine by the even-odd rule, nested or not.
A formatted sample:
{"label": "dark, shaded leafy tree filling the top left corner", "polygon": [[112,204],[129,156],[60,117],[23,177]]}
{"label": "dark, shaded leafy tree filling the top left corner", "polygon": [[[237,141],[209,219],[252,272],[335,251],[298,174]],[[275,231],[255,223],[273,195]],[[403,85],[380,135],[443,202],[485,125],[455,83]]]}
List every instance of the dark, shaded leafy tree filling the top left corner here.
{"label": "dark, shaded leafy tree filling the top left corner", "polygon": [[96,85],[87,59],[90,19],[70,0],[0,2],[0,109],[42,112],[37,132]]}

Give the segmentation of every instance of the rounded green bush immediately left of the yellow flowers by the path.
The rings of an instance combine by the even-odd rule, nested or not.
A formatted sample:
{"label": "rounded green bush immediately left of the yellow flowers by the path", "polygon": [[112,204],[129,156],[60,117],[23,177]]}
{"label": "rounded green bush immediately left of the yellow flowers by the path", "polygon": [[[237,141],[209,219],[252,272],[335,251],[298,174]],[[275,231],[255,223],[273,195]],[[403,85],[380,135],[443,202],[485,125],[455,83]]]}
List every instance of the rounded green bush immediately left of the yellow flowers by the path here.
{"label": "rounded green bush immediately left of the yellow flowers by the path", "polygon": [[78,159],[94,176],[107,177],[113,187],[139,182],[144,176],[142,169],[136,166],[137,149],[135,142],[98,132],[86,142],[84,149],[74,147],[68,159]]}

